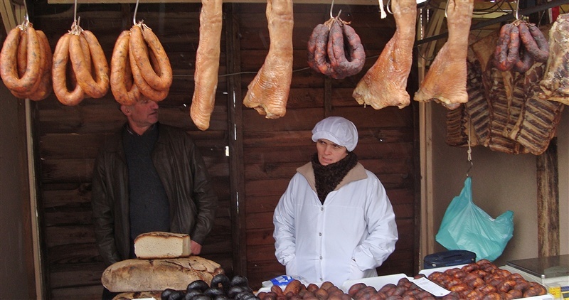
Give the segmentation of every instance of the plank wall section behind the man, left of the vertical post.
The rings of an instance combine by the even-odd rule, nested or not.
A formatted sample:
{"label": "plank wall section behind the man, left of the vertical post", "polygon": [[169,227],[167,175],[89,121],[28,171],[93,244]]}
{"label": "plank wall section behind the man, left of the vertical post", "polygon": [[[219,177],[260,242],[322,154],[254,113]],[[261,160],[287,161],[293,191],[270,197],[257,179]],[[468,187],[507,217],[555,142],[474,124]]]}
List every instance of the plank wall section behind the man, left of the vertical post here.
{"label": "plank wall section behind the man, left of the vertical post", "polygon": [[[73,23],[73,6],[36,5],[34,27],[46,32],[51,48]],[[193,64],[198,46],[200,4],[141,4],[137,21],[144,20],[159,37],[169,55],[174,83],[160,103],[160,120],[191,133],[208,166],[220,198],[213,232],[203,245],[203,257],[233,273],[227,101],[225,77],[220,77],[211,127],[201,132],[188,114],[193,95]],[[130,11],[129,11],[130,9]],[[110,62],[112,48],[122,30],[132,26],[134,5],[81,5],[80,26],[92,31]],[[222,44],[225,43],[224,39]],[[222,49],[220,73],[225,72]],[[41,160],[41,228],[44,265],[50,299],[100,299],[104,265],[92,231],[90,181],[92,164],[105,137],[116,132],[125,118],[108,92],[101,99],[83,100],[66,107],[54,95],[36,103],[36,131]]]}

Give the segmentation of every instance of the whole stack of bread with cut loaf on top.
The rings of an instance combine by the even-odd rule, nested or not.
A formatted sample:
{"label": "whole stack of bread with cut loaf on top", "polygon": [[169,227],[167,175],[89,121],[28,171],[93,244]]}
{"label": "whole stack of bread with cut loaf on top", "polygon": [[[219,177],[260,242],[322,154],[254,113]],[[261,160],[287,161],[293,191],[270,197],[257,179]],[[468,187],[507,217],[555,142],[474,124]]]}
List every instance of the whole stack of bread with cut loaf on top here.
{"label": "whole stack of bread with cut loaf on top", "polygon": [[116,262],[102,273],[102,285],[122,293],[115,299],[159,295],[164,289],[185,290],[190,282],[203,280],[209,284],[217,274],[223,274],[220,264],[191,255],[189,235],[144,233],[134,240],[134,253],[136,259]]}

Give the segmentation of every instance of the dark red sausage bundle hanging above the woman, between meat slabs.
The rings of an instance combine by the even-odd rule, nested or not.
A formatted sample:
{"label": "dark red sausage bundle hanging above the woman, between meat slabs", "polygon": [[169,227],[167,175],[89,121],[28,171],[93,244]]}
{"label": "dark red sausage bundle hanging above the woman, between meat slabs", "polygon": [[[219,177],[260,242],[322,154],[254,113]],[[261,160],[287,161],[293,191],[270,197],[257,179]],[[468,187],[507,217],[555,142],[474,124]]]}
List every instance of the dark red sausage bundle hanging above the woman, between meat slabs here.
{"label": "dark red sausage bundle hanging above the woman, between meat slabs", "polygon": [[319,24],[308,41],[308,65],[334,79],[356,75],[363,68],[366,53],[356,31],[339,16]]}

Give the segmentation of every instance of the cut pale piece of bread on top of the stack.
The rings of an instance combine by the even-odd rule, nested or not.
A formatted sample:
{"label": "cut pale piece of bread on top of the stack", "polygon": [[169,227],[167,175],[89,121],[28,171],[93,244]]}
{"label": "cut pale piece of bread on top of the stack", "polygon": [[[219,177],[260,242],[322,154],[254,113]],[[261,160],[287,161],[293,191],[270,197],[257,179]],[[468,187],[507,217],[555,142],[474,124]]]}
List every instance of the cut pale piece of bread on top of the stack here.
{"label": "cut pale piece of bread on top of the stack", "polygon": [[134,254],[143,259],[188,257],[190,236],[161,231],[143,233],[134,239]]}

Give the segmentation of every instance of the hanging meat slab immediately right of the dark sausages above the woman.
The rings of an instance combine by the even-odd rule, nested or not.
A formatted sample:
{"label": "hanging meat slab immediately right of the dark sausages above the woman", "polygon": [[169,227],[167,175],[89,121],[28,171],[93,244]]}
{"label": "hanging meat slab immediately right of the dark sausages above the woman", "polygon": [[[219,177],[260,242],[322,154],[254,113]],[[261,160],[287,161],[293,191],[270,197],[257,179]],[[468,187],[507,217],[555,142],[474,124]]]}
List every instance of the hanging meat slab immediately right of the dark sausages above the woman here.
{"label": "hanging meat slab immediately right of the dark sausages above the woman", "polygon": [[417,3],[415,0],[392,0],[395,34],[385,45],[381,55],[366,75],[358,82],[352,97],[374,109],[409,105],[407,79],[413,65],[413,43]]}

